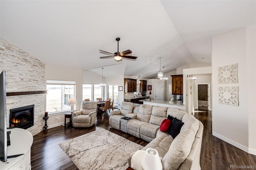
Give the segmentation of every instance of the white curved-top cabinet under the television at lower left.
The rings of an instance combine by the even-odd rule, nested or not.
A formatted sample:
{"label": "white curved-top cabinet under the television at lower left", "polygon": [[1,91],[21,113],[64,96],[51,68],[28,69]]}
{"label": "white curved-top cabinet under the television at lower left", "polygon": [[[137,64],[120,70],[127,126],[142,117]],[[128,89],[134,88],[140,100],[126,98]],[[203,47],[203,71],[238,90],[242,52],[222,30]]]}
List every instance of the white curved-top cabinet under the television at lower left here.
{"label": "white curved-top cabinet under the television at lower left", "polygon": [[23,154],[16,158],[8,158],[7,162],[0,161],[0,170],[31,170],[30,148],[33,135],[22,128],[7,129],[10,133],[10,146],[7,146],[7,156]]}

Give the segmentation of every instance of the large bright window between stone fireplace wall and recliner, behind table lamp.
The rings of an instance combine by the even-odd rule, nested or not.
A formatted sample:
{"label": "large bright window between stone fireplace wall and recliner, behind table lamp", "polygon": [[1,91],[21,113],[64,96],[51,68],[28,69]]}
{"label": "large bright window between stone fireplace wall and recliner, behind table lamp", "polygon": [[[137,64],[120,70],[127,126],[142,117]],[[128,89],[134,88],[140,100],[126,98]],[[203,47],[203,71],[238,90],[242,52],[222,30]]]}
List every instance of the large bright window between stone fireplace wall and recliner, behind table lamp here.
{"label": "large bright window between stone fireplace wall and recliner, behind table lamp", "polygon": [[46,84],[46,111],[48,113],[70,110],[68,100],[75,98],[74,81],[49,81]]}

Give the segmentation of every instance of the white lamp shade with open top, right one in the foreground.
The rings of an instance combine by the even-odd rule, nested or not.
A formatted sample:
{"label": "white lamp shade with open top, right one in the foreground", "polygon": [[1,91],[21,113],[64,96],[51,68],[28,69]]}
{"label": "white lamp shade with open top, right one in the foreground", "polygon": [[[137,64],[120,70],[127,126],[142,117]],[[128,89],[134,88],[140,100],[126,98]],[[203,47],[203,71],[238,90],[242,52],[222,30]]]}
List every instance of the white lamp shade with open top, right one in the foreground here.
{"label": "white lamp shade with open top, right one in the foreground", "polygon": [[162,170],[162,162],[156,149],[147,148],[141,162],[144,170]]}

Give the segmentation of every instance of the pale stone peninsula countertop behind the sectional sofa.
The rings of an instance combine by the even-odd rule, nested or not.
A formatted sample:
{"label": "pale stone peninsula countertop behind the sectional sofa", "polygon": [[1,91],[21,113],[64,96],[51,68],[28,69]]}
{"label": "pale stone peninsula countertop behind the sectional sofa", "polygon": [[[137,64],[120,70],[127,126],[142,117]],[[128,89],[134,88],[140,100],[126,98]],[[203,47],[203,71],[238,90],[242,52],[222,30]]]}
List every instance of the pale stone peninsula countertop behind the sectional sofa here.
{"label": "pale stone peninsula countertop behind the sectional sofa", "polygon": [[181,104],[180,101],[164,101],[164,100],[154,100],[154,99],[143,99],[140,100],[144,105],[152,105],[159,107],[170,107],[185,111],[185,105]]}

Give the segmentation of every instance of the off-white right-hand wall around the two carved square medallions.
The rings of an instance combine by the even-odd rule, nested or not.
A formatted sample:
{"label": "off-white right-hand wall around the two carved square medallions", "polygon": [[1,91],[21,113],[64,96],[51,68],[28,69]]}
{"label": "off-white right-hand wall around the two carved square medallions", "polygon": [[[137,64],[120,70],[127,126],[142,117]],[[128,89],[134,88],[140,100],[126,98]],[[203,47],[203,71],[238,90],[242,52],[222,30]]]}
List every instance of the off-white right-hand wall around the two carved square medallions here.
{"label": "off-white right-hand wall around the two carved square medallions", "polygon": [[[238,63],[238,83],[218,84],[217,67],[233,63]],[[212,134],[252,154],[256,154],[255,68],[255,26],[213,37]],[[218,103],[218,86],[238,86],[238,106]]]}

